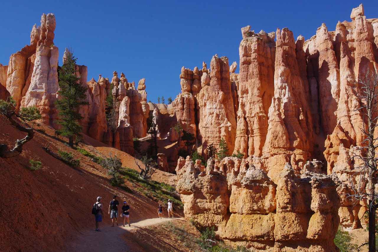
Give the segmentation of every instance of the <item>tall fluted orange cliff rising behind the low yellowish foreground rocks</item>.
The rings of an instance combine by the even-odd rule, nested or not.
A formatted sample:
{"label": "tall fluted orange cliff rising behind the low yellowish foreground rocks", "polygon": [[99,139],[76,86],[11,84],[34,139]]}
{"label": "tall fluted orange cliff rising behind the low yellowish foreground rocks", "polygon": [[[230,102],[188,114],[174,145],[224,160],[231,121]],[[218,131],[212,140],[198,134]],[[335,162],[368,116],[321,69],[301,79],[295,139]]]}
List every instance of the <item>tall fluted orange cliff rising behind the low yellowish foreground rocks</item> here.
{"label": "tall fluted orange cliff rising behind the low yellowish foreground rocks", "polygon": [[[328,31],[322,24],[311,39],[299,36],[296,42],[287,28],[267,34],[254,33],[246,26],[239,47],[240,73],[234,73],[235,66],[230,68],[231,95],[217,95],[211,89],[211,83],[222,79],[214,58],[210,72],[206,67],[199,72],[203,80],[199,91],[189,88],[195,78],[187,78],[191,85],[181,83],[183,95],[193,97],[195,109],[183,113],[178,107],[176,115],[181,122],[186,122],[186,114],[198,120],[190,125],[202,142],[202,154],[206,155],[210,144],[218,147],[223,137],[233,153],[258,157],[274,183],[286,163],[302,174],[309,160],[320,159],[322,171],[334,171],[343,182],[338,193],[352,193],[359,180],[353,177],[358,161],[350,158],[363,140],[355,83],[368,71],[378,70],[378,19],[366,19],[362,5],[353,9],[351,19],[339,22],[336,31]],[[181,76],[195,75],[189,69],[182,71]],[[175,103],[182,104],[181,96]],[[234,115],[226,115],[222,106],[207,110],[211,104],[228,104],[227,108],[233,104]],[[229,115],[234,116],[236,128]],[[342,197],[341,224],[361,227],[364,210],[364,202],[353,205]]]}

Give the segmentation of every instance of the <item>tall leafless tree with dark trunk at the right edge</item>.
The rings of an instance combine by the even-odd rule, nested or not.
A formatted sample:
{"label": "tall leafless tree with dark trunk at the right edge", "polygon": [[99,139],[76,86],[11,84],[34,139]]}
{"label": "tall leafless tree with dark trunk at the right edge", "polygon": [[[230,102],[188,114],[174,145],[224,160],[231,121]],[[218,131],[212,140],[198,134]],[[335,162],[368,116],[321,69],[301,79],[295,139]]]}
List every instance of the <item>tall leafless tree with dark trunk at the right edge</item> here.
{"label": "tall leafless tree with dark trunk at the right edge", "polygon": [[[359,181],[352,187],[354,195],[349,195],[356,200],[364,200],[368,203],[369,216],[369,252],[376,251],[375,248],[375,211],[378,207],[378,194],[375,193],[375,185],[377,184],[377,160],[376,145],[377,137],[374,137],[374,131],[378,126],[378,74],[376,72],[368,72],[362,78],[358,78],[356,82],[359,87],[357,94],[360,100],[359,110],[363,114],[363,127],[360,128],[364,135],[364,139],[359,146],[359,153],[353,158],[358,159],[361,163],[357,168]],[[365,243],[366,244],[366,243]],[[365,245],[363,244],[363,245]],[[361,245],[362,246],[362,245]]]}

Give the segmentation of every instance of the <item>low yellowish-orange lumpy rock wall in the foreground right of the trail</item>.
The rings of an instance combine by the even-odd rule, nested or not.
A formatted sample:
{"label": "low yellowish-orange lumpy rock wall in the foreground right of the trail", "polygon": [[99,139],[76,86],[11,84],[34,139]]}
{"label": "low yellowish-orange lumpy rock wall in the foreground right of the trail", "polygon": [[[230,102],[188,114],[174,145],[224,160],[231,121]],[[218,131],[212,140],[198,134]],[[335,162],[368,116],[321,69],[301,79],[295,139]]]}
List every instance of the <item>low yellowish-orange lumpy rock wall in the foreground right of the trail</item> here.
{"label": "low yellowish-orange lumpy rock wall in the foreground right of the trail", "polygon": [[299,176],[289,163],[280,170],[273,182],[256,157],[209,159],[207,167],[181,157],[176,190],[185,217],[255,251],[338,251],[338,178],[311,171]]}

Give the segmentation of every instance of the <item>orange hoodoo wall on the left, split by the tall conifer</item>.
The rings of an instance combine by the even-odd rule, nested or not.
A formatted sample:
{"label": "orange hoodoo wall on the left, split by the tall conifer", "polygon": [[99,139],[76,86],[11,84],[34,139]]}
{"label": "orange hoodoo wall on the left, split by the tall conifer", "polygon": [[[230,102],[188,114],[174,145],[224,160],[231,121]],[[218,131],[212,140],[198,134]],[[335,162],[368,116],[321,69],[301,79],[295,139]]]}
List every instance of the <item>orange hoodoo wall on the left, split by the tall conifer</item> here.
{"label": "orange hoodoo wall on the left, split by the tall conifer", "polygon": [[[30,45],[12,54],[9,65],[0,64],[0,84],[9,91],[14,98],[16,107],[36,106],[41,114],[43,123],[59,128],[54,102],[59,99],[58,57],[59,49],[54,45],[54,30],[56,27],[53,14],[43,14],[41,26],[33,26]],[[63,64],[69,51],[66,48]],[[93,78],[87,82],[87,67],[76,65],[76,75],[79,82],[87,87],[88,106],[79,109],[83,118],[79,121],[83,133],[96,140],[107,143],[122,151],[133,154],[133,137],[143,138],[147,134],[146,119],[149,106],[146,102],[146,85],[141,80],[138,90],[135,83],[127,82],[121,73],[121,79],[113,76],[112,82],[116,86],[115,93],[111,90],[112,82],[101,77],[96,82]],[[118,87],[118,84],[120,86]],[[112,131],[108,127],[105,109],[106,97],[112,94],[116,101],[117,121]],[[6,99],[6,92],[2,96]],[[125,101],[123,101],[125,99]]]}

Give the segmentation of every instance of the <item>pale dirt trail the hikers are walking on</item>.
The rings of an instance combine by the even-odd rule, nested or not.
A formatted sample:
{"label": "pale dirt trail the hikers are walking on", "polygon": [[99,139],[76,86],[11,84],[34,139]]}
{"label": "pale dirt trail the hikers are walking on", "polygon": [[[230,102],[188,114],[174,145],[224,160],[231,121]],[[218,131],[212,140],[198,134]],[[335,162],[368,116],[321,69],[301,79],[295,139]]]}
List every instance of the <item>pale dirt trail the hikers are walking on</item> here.
{"label": "pale dirt trail the hikers are walking on", "polygon": [[[169,218],[144,219],[138,222],[131,222],[131,227],[127,225],[127,222],[125,227],[122,227],[122,219],[121,222],[118,222],[118,226],[115,227],[102,223],[100,224],[101,232],[95,232],[95,228],[82,231],[76,241],[68,246],[67,251],[132,251],[132,247],[122,238],[125,232],[128,232],[130,229],[159,224],[169,220]],[[95,226],[95,224],[93,224],[93,226]]]}

